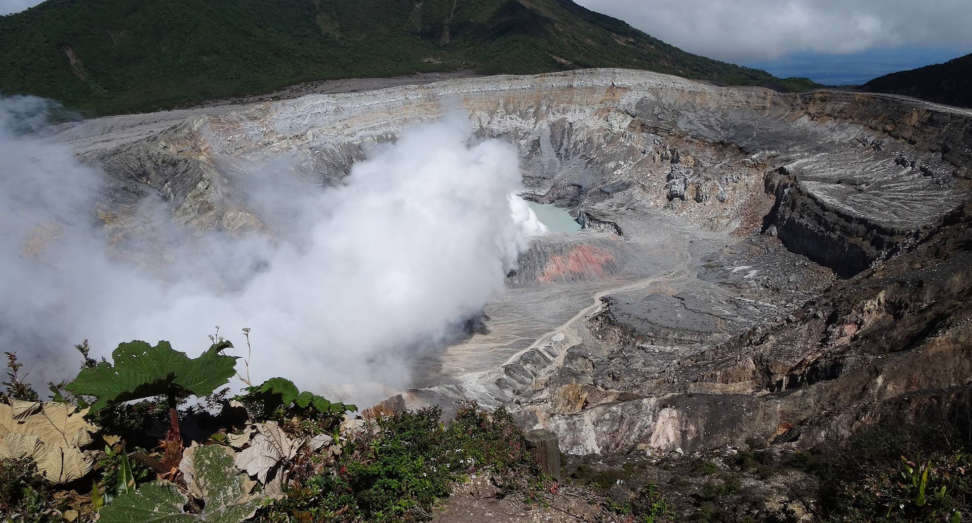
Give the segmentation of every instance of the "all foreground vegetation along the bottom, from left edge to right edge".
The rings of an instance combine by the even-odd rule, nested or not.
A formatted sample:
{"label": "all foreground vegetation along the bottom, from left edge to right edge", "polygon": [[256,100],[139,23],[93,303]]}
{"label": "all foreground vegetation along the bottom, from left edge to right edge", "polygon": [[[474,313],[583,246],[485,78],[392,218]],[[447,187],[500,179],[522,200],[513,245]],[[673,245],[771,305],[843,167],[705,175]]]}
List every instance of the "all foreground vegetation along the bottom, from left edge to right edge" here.
{"label": "all foreground vegetation along the bottom, from left edge to right edge", "polygon": [[[251,385],[230,402],[228,389],[217,389],[230,376],[226,358],[235,358],[224,351],[232,345],[218,335],[211,338],[213,346],[197,358],[164,342],[132,342],[121,343],[111,362],[91,359],[87,343],[80,344],[81,373],[70,383],[50,383],[52,402],[43,408],[35,403],[40,395],[23,380],[16,355],[8,353],[0,389],[5,416],[0,421],[7,433],[0,455],[13,457],[0,459],[3,520],[414,522],[431,519],[437,500],[470,474],[488,475],[501,497],[522,496],[526,505],[545,507],[546,495],[561,487],[539,473],[523,433],[504,409],[488,413],[468,404],[447,422],[438,408],[373,422],[350,420],[343,414],[354,406],[301,392],[282,377]],[[110,377],[110,369],[119,376]],[[245,375],[236,376],[248,383]],[[80,397],[65,397],[67,391]],[[186,403],[199,394],[206,395]],[[94,412],[67,409],[65,420],[66,402],[101,405]],[[81,416],[97,425],[90,427],[95,439],[71,443],[85,440]],[[166,434],[170,420],[183,427],[185,438]],[[885,421],[836,450],[781,453],[779,447],[746,441],[749,450],[732,461],[716,458],[721,466],[702,459],[663,462],[659,468],[673,475],[667,484],[643,482],[619,496],[611,493],[635,479],[639,465],[601,471],[581,465],[568,482],[603,492],[588,503],[626,521],[754,521],[734,509],[752,503],[746,498],[753,482],[772,485],[776,474],[798,470],[816,476],[816,496],[805,494],[814,498],[821,520],[961,523],[972,513],[970,420],[967,409],[948,416],[929,411],[907,424]],[[42,430],[49,422],[55,422],[56,434]],[[39,467],[42,461],[51,467],[50,460],[17,455],[26,448],[11,438],[20,434],[18,423],[31,425],[42,438],[68,441],[65,456],[103,450],[92,455],[86,474],[54,484]],[[185,446],[187,439],[192,446]],[[779,521],[773,517],[764,520]]]}

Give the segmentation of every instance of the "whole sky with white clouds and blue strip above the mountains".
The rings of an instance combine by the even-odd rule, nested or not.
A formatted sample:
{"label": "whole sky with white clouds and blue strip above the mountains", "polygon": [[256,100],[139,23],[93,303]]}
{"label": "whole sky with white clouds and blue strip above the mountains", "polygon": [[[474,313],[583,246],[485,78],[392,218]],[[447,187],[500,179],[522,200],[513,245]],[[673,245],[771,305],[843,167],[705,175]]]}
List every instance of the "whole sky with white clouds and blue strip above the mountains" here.
{"label": "whole sky with white clouds and blue strip above the mountains", "polygon": [[[861,83],[972,52],[972,0],[575,0],[680,49]],[[0,15],[40,0],[0,0]]]}

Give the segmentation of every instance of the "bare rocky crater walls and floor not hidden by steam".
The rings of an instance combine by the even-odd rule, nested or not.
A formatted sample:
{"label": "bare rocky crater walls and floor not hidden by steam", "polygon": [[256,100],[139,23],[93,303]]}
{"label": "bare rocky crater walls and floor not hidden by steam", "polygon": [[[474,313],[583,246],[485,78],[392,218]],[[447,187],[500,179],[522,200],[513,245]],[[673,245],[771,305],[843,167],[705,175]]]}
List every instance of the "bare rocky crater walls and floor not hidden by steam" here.
{"label": "bare rocky crater walls and floor not hidden by steam", "polygon": [[531,199],[586,229],[539,239],[487,329],[441,355],[468,372],[433,373],[404,403],[512,405],[573,453],[690,451],[839,440],[968,388],[965,111],[586,70],[116,116],[54,138],[105,166],[120,237],[141,234],[147,194],[187,226],[270,233],[239,190],[260,166],[334,184],[446,101],[519,147]]}

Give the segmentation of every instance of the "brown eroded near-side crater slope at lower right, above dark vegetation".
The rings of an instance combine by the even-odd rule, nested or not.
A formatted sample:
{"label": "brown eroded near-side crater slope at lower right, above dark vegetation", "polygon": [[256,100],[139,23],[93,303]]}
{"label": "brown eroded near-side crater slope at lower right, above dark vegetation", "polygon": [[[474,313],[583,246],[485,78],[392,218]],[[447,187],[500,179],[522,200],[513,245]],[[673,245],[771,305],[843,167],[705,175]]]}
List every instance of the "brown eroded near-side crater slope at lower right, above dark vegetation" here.
{"label": "brown eroded near-side crater slope at lower right, above dark vegetation", "polygon": [[[752,439],[812,447],[885,418],[954,409],[972,390],[970,235],[972,213],[963,208],[879,267],[836,282],[776,322],[741,324],[743,334],[722,343],[684,327],[669,327],[668,336],[680,338],[667,344],[645,343],[649,333],[663,336],[659,324],[677,308],[624,322],[608,307],[588,329],[616,338],[568,348],[560,368],[538,373],[544,388],[523,403],[575,453],[639,443],[738,448]],[[709,339],[693,349],[696,340],[686,340],[693,335]],[[617,400],[562,415],[571,396],[560,383],[587,383],[586,394]]]}

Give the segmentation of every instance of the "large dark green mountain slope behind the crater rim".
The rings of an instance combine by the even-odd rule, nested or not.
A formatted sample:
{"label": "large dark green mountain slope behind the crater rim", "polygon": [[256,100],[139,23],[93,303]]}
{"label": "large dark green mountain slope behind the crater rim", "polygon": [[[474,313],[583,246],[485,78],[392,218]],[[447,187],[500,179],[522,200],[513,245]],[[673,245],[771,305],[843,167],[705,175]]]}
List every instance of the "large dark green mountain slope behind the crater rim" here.
{"label": "large dark green mountain slope behind the crater rim", "polygon": [[801,88],[691,54],[570,0],[48,0],[0,16],[0,91],[90,114],[316,80],[624,67]]}

